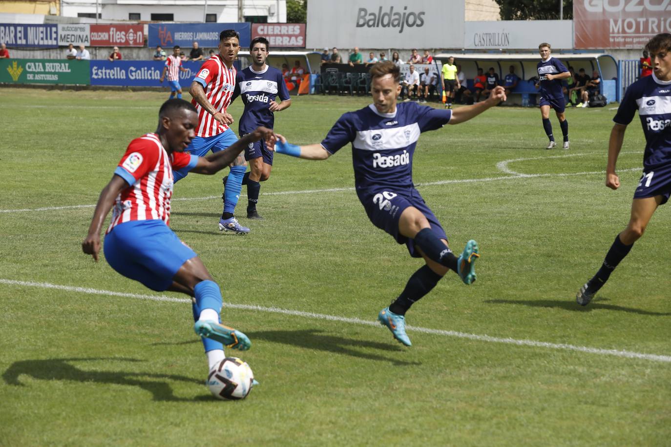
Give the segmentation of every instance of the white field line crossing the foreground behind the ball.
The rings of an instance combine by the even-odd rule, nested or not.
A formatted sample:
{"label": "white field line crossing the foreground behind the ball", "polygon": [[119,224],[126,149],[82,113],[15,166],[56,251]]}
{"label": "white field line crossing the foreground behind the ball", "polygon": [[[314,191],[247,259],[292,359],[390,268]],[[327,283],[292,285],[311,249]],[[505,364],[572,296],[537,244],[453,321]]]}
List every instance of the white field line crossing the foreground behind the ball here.
{"label": "white field line crossing the foreground behind the ball", "polygon": [[[121,296],[124,298],[136,298],[138,300],[151,300],[159,302],[172,302],[172,303],[191,303],[191,300],[187,298],[171,298],[163,295],[143,295],[143,294],[127,294],[122,292],[112,292],[110,290],[99,290],[93,288],[83,288],[83,287],[73,287],[70,285],[58,285],[51,283],[42,283],[42,282],[33,282],[33,281],[16,281],[14,279],[0,279],[0,284],[6,285],[16,285],[19,287],[35,287],[43,289],[55,289],[63,290],[65,292],[77,292],[82,294],[89,295],[103,295],[103,296]],[[249,304],[231,304],[226,303],[225,307],[232,309],[241,309],[241,310],[252,310],[256,312],[270,312],[272,314],[284,314],[291,316],[301,316],[305,318],[313,318],[316,320],[328,320],[328,321],[338,321],[352,324],[359,324],[362,326],[378,326],[378,322],[369,321],[369,320],[360,320],[359,318],[345,318],[340,316],[333,316],[327,314],[315,314],[313,312],[302,312],[300,310],[289,310],[275,307],[264,307],[264,306],[252,306]],[[413,332],[423,332],[424,334],[433,334],[433,335],[442,335],[454,338],[466,338],[468,340],[476,340],[481,342],[491,342],[491,343],[503,343],[503,344],[514,344],[517,346],[531,346],[533,348],[548,348],[548,349],[557,349],[557,350],[571,350],[579,353],[588,353],[596,355],[609,355],[614,357],[622,357],[625,359],[640,359],[640,360],[649,360],[655,362],[671,363],[671,356],[668,355],[656,355],[656,354],[644,354],[644,353],[635,353],[630,350],[619,350],[619,349],[602,349],[602,348],[590,348],[589,346],[576,346],[574,344],[565,344],[565,343],[550,343],[550,342],[540,342],[536,340],[518,340],[516,338],[502,338],[489,335],[479,335],[479,334],[468,334],[466,332],[457,332],[454,330],[442,330],[442,329],[430,329],[430,328],[421,328],[417,326],[406,326],[408,330]]]}

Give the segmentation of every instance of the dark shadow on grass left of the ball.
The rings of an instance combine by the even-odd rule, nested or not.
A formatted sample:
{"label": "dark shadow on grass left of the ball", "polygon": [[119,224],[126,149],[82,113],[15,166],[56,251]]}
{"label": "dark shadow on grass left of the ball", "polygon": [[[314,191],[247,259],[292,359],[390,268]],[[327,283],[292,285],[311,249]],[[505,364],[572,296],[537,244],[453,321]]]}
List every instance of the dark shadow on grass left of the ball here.
{"label": "dark shadow on grass left of the ball", "polygon": [[70,365],[68,362],[74,361],[125,361],[142,362],[138,359],[125,359],[118,357],[111,358],[90,358],[90,359],[40,359],[40,360],[21,360],[13,363],[3,373],[2,377],[7,385],[17,387],[25,386],[19,381],[19,376],[28,375],[34,379],[44,381],[76,381],[82,383],[106,383],[111,385],[128,385],[131,387],[140,387],[145,391],[152,393],[154,401],[193,401],[183,397],[176,397],[172,393],[172,388],[165,381],[143,380],[150,379],[168,379],[172,381],[183,381],[203,385],[203,381],[192,379],[174,374],[155,374],[155,373],[131,373],[127,371],[84,371]]}

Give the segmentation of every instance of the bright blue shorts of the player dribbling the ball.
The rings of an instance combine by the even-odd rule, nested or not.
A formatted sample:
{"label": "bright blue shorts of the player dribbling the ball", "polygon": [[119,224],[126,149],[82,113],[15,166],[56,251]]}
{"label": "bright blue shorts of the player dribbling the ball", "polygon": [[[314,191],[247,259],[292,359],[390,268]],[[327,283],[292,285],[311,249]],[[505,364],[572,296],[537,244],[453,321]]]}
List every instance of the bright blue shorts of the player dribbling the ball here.
{"label": "bright blue shorts of the player dribbling the ball", "polygon": [[168,290],[180,267],[197,256],[160,219],[116,225],[105,236],[103,251],[113,269],[157,292]]}

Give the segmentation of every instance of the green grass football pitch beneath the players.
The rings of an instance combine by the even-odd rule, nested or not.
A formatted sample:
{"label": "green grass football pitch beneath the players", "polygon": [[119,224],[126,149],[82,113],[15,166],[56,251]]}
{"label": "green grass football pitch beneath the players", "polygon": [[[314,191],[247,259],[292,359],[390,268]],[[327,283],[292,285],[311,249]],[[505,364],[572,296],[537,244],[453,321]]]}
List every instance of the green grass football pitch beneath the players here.
{"label": "green grass football pitch beneath the players", "polygon": [[[172,229],[221,285],[223,320],[252,339],[227,354],[260,381],[225,402],[204,386],[187,300],[156,300],[81,252],[91,205],[166,97],[0,90],[0,445],[669,444],[671,205],[595,302],[574,299],[629,218],[637,119],[615,192],[603,174],[612,106],[568,110],[570,151],[542,149],[537,109],[423,134],[415,182],[454,251],[473,238],[482,257],[476,283],[448,273],[415,304],[412,348],[374,320],[421,261],[368,221],[350,150],[276,155],[266,219],[240,219],[247,237],[217,231],[227,170],[189,175]],[[366,104],[297,97],[275,128],[315,143]]]}

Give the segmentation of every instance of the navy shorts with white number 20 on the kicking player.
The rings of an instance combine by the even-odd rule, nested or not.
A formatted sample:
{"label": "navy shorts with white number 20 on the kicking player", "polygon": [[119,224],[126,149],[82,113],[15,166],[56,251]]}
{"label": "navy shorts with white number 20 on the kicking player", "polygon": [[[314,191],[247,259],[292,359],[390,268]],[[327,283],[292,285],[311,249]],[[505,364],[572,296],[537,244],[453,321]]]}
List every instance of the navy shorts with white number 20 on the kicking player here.
{"label": "navy shorts with white number 20 on the kicking player", "polygon": [[421,257],[415,249],[415,241],[399,233],[399,219],[405,208],[414,206],[429,221],[431,230],[440,239],[448,240],[445,230],[426,206],[424,199],[415,188],[376,188],[374,190],[357,190],[361,204],[366,209],[366,214],[373,225],[386,231],[396,239],[397,243],[405,244],[412,257]]}

